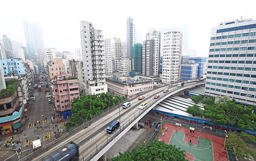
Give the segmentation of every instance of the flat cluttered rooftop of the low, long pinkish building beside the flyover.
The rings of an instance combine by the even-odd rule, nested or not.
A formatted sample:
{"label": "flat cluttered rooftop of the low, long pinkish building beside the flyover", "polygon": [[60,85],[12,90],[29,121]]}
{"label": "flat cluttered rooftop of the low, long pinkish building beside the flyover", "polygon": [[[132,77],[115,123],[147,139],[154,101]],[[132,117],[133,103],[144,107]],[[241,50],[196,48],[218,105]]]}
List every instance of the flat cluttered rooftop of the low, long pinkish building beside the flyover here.
{"label": "flat cluttered rooftop of the low, long pinkish building beside the flyover", "polygon": [[[124,79],[127,78],[127,79]],[[141,83],[151,83],[153,82],[152,80],[135,80],[132,78],[128,78],[128,77],[117,77],[114,76],[112,78],[105,78],[106,80],[112,80],[116,83],[120,83],[121,85],[138,85]]]}

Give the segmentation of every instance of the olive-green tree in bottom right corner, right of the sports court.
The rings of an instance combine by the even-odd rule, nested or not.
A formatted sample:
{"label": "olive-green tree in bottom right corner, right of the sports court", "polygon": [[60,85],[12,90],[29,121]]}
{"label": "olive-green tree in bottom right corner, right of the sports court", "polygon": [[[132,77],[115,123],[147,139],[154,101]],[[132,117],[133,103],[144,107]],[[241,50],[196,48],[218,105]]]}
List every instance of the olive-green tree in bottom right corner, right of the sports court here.
{"label": "olive-green tree in bottom right corner, right of the sports court", "polygon": [[235,133],[228,133],[226,142],[231,149],[234,149],[233,154],[236,156],[241,156],[243,158],[249,158],[249,156],[256,156],[253,150],[250,150],[247,144],[245,144],[245,142]]}

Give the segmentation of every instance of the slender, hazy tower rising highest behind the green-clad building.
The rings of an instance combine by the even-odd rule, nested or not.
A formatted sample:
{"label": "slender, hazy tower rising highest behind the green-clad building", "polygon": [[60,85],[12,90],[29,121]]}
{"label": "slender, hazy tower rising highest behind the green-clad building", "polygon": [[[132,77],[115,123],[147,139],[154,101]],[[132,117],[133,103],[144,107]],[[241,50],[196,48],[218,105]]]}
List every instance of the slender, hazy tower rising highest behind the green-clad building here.
{"label": "slender, hazy tower rising highest behind the green-clad building", "polygon": [[132,56],[132,46],[136,43],[136,30],[134,28],[133,19],[128,17],[127,19],[127,57]]}

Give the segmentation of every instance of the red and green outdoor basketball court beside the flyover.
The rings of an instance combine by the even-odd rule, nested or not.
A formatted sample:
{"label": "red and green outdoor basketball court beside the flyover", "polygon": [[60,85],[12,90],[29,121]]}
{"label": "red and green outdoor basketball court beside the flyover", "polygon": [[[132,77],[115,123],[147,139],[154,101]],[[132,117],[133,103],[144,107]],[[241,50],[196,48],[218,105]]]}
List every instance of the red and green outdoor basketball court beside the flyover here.
{"label": "red and green outdoor basketball court beside the flyover", "polygon": [[224,138],[196,130],[193,132],[167,123],[163,127],[167,127],[167,130],[164,131],[164,136],[161,136],[161,141],[185,150],[186,160],[227,161],[226,152],[223,152]]}

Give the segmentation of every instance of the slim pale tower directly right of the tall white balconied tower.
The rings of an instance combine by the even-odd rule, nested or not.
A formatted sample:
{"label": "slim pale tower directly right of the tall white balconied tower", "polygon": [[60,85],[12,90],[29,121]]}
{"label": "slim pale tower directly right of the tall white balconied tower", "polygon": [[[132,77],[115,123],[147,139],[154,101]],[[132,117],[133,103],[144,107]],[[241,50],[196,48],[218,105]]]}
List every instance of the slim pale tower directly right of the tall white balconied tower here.
{"label": "slim pale tower directly right of the tall white balconied tower", "polygon": [[104,52],[105,52],[105,73],[112,73],[112,54],[111,54],[111,40],[105,39]]}

